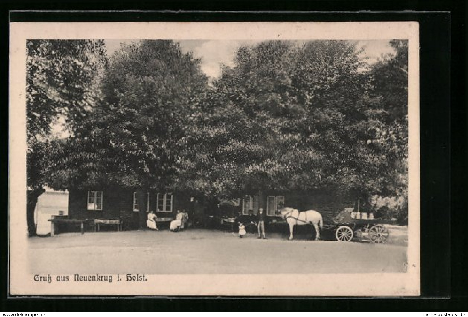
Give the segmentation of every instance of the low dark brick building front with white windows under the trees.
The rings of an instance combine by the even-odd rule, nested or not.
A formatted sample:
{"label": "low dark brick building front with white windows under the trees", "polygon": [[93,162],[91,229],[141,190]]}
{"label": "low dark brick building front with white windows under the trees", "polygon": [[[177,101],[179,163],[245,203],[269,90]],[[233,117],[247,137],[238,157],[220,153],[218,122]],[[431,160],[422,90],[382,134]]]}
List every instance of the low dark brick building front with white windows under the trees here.
{"label": "low dark brick building front with white windows under the trees", "polygon": [[145,227],[149,211],[166,221],[174,219],[177,211],[186,211],[192,223],[213,227],[206,222],[212,221],[216,226],[223,217],[235,217],[239,212],[248,215],[249,211],[256,215],[259,208],[263,208],[269,218],[279,218],[278,211],[283,207],[316,210],[327,221],[344,208],[355,206],[353,197],[330,195],[326,191],[265,191],[233,199],[229,204],[213,204],[213,200],[199,199],[183,192],[138,193],[123,188],[92,188],[69,191],[68,215],[71,219],[119,219],[124,230],[136,230]]}

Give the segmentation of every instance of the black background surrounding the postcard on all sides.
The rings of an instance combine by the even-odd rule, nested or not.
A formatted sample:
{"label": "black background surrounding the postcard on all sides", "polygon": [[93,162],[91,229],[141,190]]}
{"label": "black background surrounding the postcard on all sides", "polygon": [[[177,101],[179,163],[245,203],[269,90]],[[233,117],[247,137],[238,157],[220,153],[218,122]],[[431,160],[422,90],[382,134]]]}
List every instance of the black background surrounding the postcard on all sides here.
{"label": "black background surrounding the postcard on all sides", "polygon": [[[297,3],[297,2],[296,2]],[[435,3],[435,2],[434,2]],[[174,10],[165,12],[14,12],[12,21],[419,21],[420,27],[420,87],[421,87],[421,218],[422,218],[422,294],[427,297],[451,296],[452,299],[262,299],[246,300],[233,298],[178,298],[178,299],[149,299],[149,298],[110,298],[110,299],[42,299],[42,298],[9,298],[7,299],[6,261],[2,261],[2,293],[0,310],[3,311],[66,311],[66,310],[401,310],[402,306],[414,310],[447,310],[453,305],[458,309],[464,307],[467,283],[466,272],[463,271],[467,263],[466,255],[462,255],[467,248],[466,235],[462,235],[466,221],[466,197],[463,189],[465,154],[461,140],[466,137],[466,109],[464,107],[464,77],[465,74],[465,29],[464,4],[448,2],[445,7],[439,4],[406,1],[406,7],[424,10],[441,10],[449,12],[297,12],[297,10],[322,11],[340,9],[342,11],[356,11],[362,8],[362,3],[344,1],[317,1],[314,7],[309,4],[292,5],[288,10],[295,12],[180,12],[177,4],[159,3],[164,9]],[[241,2],[227,2],[223,11],[239,10]],[[136,4],[113,2],[113,10],[137,9]],[[139,3],[138,9],[154,9],[149,3]],[[185,3],[187,5],[187,3]],[[250,5],[250,7],[249,7]],[[373,7],[378,10],[401,10],[398,2],[376,2]],[[399,7],[400,6],[400,7]],[[4,5],[1,5],[3,9]],[[26,3],[17,2],[8,6],[8,10],[105,10],[109,3]],[[248,10],[284,8],[284,3],[273,1],[252,4],[245,7]],[[253,7],[253,8],[252,8]],[[180,6],[178,7],[180,8]],[[213,4],[197,2],[191,10],[215,9]],[[216,8],[219,9],[219,8]],[[460,11],[459,11],[460,10]],[[2,11],[2,17],[9,12]],[[7,44],[8,18],[1,27],[1,38]],[[5,46],[7,47],[7,45]],[[3,69],[7,69],[8,52],[2,62]],[[451,60],[452,58],[452,60]],[[452,63],[452,74],[450,66]],[[452,81],[450,81],[452,75]],[[8,82],[7,74],[3,76]],[[452,85],[452,92],[450,84]],[[7,85],[2,85],[3,99],[7,96]],[[7,105],[7,100],[4,103]],[[450,108],[450,101],[452,105]],[[451,110],[452,109],[452,110]],[[4,110],[5,111],[5,110]],[[7,112],[7,111],[6,111]],[[6,114],[6,113],[5,113]],[[7,115],[2,116],[3,132],[7,134]],[[5,124],[3,124],[5,122]],[[450,133],[452,128],[452,134]],[[4,139],[2,138],[2,141]],[[452,143],[451,143],[452,141]],[[458,143],[457,143],[458,142]],[[455,145],[456,144],[456,145]],[[7,149],[7,142],[2,143]],[[466,145],[466,144],[463,144]],[[7,158],[7,150],[4,152]],[[4,160],[5,162],[6,160]],[[452,164],[451,164],[452,163]],[[7,183],[6,164],[2,164],[0,176]],[[450,170],[450,167],[452,169]],[[452,173],[452,179],[450,179]],[[452,180],[452,192],[449,191]],[[2,190],[2,205],[7,210],[7,191]],[[452,196],[450,196],[452,195]],[[450,202],[454,203],[451,206]],[[454,212],[456,208],[462,208]],[[452,232],[447,215],[452,211]],[[1,220],[1,256],[6,259],[7,250],[7,216]],[[458,225],[457,225],[458,224]],[[460,231],[461,229],[461,231]],[[452,233],[452,244],[450,244]],[[463,240],[464,239],[464,240]],[[450,254],[450,250],[452,254]],[[450,270],[450,256],[452,258],[452,274]],[[464,256],[464,258],[463,258]],[[462,261],[463,260],[463,261]],[[464,273],[464,274],[463,274]],[[451,289],[452,286],[452,289]]]}

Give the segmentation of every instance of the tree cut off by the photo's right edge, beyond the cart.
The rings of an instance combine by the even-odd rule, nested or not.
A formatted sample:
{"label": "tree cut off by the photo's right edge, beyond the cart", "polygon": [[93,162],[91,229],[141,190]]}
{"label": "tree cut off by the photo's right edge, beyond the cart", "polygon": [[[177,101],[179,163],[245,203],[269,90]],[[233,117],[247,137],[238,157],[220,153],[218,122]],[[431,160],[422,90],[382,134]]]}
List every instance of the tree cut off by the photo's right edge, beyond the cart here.
{"label": "tree cut off by the photo's right edge, beyond the cart", "polygon": [[[408,41],[392,40],[395,52],[372,66],[372,94],[379,99],[380,118],[375,146],[386,155],[386,190],[373,197],[375,208],[388,218],[408,218]],[[375,202],[387,202],[385,204]],[[395,207],[396,206],[396,207]]]}

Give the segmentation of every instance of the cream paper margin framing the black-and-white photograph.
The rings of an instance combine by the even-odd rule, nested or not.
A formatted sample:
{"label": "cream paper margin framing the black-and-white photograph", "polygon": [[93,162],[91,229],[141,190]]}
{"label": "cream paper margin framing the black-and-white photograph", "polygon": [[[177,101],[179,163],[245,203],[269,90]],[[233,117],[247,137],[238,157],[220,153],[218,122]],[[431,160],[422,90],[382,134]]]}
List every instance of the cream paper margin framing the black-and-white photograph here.
{"label": "cream paper margin framing the black-and-white photograph", "polygon": [[[148,283],[35,283],[26,248],[27,39],[409,40],[409,241],[402,274],[149,275]],[[418,23],[394,22],[12,22],[9,74],[9,293],[34,296],[419,296]],[[100,273],[100,272],[96,272]],[[124,272],[122,272],[124,273]],[[60,272],[51,272],[52,277]],[[246,285],[245,281],[249,281]],[[158,281],[153,283],[152,281]],[[169,282],[170,281],[170,282]],[[294,288],[291,288],[294,285]],[[314,287],[310,287],[314,285]]]}

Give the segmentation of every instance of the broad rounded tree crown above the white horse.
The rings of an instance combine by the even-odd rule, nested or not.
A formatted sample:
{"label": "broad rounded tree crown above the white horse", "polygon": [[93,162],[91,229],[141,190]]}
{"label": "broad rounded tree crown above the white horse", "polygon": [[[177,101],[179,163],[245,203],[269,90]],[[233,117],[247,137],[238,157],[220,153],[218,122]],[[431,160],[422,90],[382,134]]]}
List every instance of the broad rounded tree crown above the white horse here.
{"label": "broad rounded tree crown above the white horse", "polygon": [[359,53],[348,41],[239,48],[203,106],[189,181],[228,196],[385,190],[389,163],[373,146],[384,122]]}

